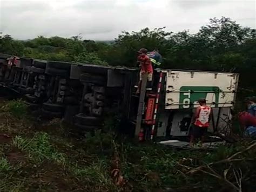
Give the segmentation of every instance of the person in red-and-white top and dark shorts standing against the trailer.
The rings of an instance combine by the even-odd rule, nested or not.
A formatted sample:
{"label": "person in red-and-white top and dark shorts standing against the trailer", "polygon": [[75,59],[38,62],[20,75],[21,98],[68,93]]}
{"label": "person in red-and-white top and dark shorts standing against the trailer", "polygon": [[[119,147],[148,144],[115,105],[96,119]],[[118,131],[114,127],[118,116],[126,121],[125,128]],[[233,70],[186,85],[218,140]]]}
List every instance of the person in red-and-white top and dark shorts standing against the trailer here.
{"label": "person in red-and-white top and dark shorts standing against the trailer", "polygon": [[193,146],[194,139],[201,139],[201,143],[205,141],[208,126],[210,125],[211,108],[206,105],[206,99],[200,98],[198,100],[200,106],[198,106],[196,112],[192,118],[192,134],[190,138],[190,145]]}

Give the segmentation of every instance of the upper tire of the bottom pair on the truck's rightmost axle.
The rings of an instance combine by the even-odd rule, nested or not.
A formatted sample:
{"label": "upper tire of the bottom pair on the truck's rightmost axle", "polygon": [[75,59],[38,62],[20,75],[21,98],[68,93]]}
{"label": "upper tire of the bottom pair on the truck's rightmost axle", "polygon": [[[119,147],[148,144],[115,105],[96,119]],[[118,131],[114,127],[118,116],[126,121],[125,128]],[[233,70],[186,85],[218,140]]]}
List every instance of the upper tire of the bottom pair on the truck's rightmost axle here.
{"label": "upper tire of the bottom pair on the truck's rightmost axle", "polygon": [[80,125],[100,126],[102,125],[102,119],[98,117],[85,116],[83,113],[75,115],[75,123]]}

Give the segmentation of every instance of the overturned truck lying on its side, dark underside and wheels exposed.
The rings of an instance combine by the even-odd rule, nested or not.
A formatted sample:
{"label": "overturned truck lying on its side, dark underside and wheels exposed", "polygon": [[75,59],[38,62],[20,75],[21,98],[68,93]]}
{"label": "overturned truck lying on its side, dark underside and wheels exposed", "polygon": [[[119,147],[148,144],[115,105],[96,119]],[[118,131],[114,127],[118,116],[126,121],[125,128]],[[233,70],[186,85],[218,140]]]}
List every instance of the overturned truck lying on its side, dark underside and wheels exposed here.
{"label": "overturned truck lying on its side, dark underside and wheels exposed", "polygon": [[155,69],[152,90],[138,70],[126,67],[32,60],[0,54],[1,86],[21,94],[31,110],[45,118],[63,118],[80,132],[100,129],[111,111],[120,115],[120,131],[144,139],[187,137],[191,118],[204,97],[213,108],[210,132],[231,119],[238,74]]}

